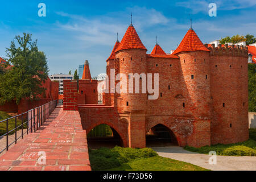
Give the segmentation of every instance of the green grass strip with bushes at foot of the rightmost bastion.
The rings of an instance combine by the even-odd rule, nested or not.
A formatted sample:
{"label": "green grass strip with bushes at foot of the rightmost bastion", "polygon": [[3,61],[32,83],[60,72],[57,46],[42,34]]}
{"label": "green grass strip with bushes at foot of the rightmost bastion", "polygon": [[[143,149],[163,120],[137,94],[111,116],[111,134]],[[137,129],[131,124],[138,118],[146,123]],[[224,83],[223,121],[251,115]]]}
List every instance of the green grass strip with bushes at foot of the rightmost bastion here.
{"label": "green grass strip with bushes at foot of the rightmost bastion", "polygon": [[246,142],[216,144],[200,148],[185,146],[184,149],[201,154],[209,154],[209,151],[216,151],[217,155],[256,156],[256,129],[249,129],[249,137],[250,139]]}

